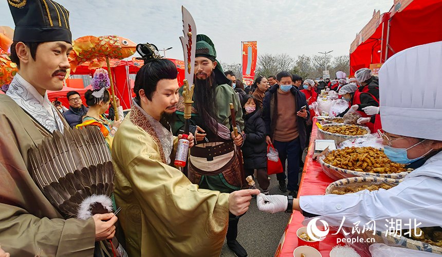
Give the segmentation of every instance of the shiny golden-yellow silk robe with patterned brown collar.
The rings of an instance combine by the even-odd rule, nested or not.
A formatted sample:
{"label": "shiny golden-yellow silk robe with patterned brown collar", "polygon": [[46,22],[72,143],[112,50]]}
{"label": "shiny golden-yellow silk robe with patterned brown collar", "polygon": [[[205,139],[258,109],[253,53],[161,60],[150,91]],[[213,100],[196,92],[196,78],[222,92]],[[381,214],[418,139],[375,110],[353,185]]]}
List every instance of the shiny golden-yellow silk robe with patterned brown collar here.
{"label": "shiny golden-yellow silk robe with patterned brown collar", "polygon": [[[198,189],[165,164],[159,139],[143,114],[133,107],[127,116],[114,137],[112,159],[128,255],[219,256],[227,233],[229,194]],[[177,141],[175,137],[175,149]]]}

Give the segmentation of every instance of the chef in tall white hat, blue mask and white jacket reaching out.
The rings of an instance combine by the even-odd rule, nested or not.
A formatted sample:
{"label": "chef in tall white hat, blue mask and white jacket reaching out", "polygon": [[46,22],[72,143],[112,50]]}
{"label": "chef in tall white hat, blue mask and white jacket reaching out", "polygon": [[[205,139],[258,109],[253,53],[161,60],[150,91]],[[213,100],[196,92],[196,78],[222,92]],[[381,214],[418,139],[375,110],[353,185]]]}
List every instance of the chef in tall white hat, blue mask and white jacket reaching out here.
{"label": "chef in tall white hat, blue mask and white jacket reaching out", "polygon": [[258,208],[271,213],[297,210],[304,216],[320,216],[330,226],[340,226],[343,216],[345,227],[375,221],[380,231],[392,218],[402,224],[416,219],[417,227],[441,226],[442,42],[391,57],[379,70],[379,90],[384,152],[391,160],[416,168],[403,182],[389,190],[293,200],[260,194]]}

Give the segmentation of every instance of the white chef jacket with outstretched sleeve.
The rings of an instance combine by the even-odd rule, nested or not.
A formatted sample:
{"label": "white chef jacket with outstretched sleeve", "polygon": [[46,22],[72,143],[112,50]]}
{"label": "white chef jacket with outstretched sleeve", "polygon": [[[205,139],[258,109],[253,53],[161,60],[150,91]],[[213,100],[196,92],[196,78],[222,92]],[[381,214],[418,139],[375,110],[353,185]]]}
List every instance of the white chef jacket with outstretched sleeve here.
{"label": "white chef jacket with outstretched sleeve", "polygon": [[[417,227],[442,226],[442,152],[389,190],[301,196],[299,204],[303,211],[320,215],[330,226],[339,227],[343,216],[344,227],[353,227],[357,222],[363,226],[375,221],[376,230],[380,231],[391,226],[392,218],[394,221],[401,219],[403,229],[409,219],[413,223],[412,228],[414,219],[417,224],[421,223]],[[306,225],[309,220],[306,219],[303,224]]]}

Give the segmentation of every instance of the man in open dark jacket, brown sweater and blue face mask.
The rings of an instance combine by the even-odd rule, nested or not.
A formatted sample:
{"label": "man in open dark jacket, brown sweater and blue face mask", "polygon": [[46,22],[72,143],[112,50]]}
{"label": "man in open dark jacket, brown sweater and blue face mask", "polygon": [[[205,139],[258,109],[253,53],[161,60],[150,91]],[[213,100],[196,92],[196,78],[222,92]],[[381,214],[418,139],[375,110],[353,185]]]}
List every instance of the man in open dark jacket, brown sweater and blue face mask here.
{"label": "man in open dark jacket, brown sweater and blue face mask", "polygon": [[[279,152],[284,172],[277,174],[281,192],[296,197],[299,189],[299,154],[305,148],[306,121],[310,118],[304,93],[292,86],[292,76],[287,71],[277,75],[278,86],[273,86],[264,96],[263,119],[266,124],[266,142],[273,143]],[[305,106],[304,109],[301,107]],[[288,183],[285,182],[285,161]]]}

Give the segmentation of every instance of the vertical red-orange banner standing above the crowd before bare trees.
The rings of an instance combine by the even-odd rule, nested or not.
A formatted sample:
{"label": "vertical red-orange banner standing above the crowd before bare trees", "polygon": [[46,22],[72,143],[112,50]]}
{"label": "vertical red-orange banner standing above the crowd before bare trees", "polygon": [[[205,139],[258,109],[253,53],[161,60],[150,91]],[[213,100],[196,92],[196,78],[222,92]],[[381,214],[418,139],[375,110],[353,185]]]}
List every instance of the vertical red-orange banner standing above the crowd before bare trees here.
{"label": "vertical red-orange banner standing above the crowd before bare trees", "polygon": [[242,43],[243,50],[243,82],[244,85],[253,84],[256,69],[256,41],[245,41]]}

